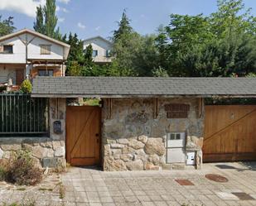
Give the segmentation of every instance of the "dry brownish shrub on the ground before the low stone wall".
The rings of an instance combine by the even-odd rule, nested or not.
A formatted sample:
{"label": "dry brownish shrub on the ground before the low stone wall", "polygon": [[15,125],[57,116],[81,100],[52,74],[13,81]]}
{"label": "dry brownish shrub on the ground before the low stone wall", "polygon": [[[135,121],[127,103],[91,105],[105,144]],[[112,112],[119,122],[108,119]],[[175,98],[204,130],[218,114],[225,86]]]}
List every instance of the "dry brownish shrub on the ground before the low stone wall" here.
{"label": "dry brownish shrub on the ground before the low stone wall", "polygon": [[42,172],[33,164],[31,151],[18,151],[12,156],[8,170],[7,180],[13,184],[35,185],[42,179]]}

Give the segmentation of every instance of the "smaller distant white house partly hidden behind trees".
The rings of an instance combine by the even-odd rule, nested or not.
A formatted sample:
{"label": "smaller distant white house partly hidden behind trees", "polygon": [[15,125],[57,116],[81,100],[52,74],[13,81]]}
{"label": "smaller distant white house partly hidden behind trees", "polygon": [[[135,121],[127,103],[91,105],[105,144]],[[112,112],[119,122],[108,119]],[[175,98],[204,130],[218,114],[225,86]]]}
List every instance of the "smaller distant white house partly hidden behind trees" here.
{"label": "smaller distant white house partly hidden behind trees", "polygon": [[93,47],[93,58],[96,64],[106,64],[111,62],[111,50],[113,48],[112,42],[101,36],[94,36],[84,40],[83,43],[84,50],[86,50],[86,47],[89,45]]}

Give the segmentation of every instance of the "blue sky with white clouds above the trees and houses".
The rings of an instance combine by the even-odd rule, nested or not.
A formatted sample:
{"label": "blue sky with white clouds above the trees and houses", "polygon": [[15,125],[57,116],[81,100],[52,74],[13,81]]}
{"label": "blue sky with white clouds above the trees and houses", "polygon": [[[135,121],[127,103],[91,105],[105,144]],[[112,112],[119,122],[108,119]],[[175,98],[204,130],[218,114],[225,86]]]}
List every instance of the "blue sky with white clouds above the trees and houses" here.
{"label": "blue sky with white clouds above the trees and houses", "polygon": [[[46,0],[0,0],[0,15],[14,17],[17,30],[33,28],[36,7]],[[205,15],[215,12],[217,0],[56,0],[58,26],[62,34],[77,33],[80,39],[112,36],[123,9],[131,25],[142,35],[152,34],[161,24],[167,25],[171,13]],[[244,0],[256,16],[256,0]]]}

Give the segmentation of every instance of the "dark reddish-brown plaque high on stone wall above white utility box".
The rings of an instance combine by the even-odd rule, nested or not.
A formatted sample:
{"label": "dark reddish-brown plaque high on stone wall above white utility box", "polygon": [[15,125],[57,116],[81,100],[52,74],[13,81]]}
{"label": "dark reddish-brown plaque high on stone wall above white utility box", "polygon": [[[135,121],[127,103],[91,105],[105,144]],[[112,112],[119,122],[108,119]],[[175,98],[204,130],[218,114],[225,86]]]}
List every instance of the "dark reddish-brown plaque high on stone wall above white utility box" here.
{"label": "dark reddish-brown plaque high on stone wall above white utility box", "polygon": [[167,118],[187,118],[190,111],[190,105],[188,104],[166,104],[165,110],[167,112]]}

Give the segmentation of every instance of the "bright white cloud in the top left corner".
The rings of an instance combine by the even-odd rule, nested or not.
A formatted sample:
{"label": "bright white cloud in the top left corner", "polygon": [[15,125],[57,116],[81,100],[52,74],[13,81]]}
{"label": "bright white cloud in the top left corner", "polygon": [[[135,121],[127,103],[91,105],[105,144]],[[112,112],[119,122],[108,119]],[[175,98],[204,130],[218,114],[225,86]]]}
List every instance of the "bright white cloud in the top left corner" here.
{"label": "bright white cloud in the top left corner", "polygon": [[46,0],[1,0],[0,10],[23,13],[28,17],[36,17],[36,7],[40,4],[45,5]]}

